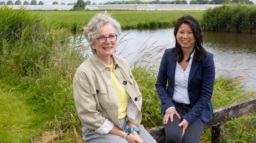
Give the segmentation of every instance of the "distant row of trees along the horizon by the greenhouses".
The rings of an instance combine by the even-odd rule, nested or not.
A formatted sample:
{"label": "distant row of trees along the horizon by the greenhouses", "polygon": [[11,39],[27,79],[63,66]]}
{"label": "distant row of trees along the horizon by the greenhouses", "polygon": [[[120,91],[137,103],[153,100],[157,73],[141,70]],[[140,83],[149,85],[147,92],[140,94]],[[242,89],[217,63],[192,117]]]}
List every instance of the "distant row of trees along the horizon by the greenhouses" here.
{"label": "distant row of trees along the horizon by the greenhouses", "polygon": [[[227,3],[241,3],[245,5],[254,5],[252,1],[249,0],[192,0],[190,1],[190,5],[205,5],[205,4],[210,4],[210,5],[221,5],[221,4],[227,4]],[[52,5],[58,5],[59,3],[54,1]],[[60,3],[61,5],[65,5],[65,3]],[[151,1],[151,2],[146,2],[146,1],[115,1],[115,2],[107,2],[107,3],[99,3],[98,5],[123,5],[123,4],[177,4],[177,5],[186,5],[188,2],[186,0],[176,0],[176,1]],[[5,5],[5,2],[0,2],[0,5]],[[13,3],[12,1],[8,1],[6,5],[22,5],[20,0],[15,1]],[[28,1],[24,1],[23,5],[44,5],[44,2],[40,1],[37,3],[37,1],[32,0],[30,3]],[[97,5],[95,2],[91,4],[90,1],[84,2],[83,0],[78,0],[75,3],[68,3],[67,5],[74,5],[75,7],[81,7],[85,9],[86,5]]]}

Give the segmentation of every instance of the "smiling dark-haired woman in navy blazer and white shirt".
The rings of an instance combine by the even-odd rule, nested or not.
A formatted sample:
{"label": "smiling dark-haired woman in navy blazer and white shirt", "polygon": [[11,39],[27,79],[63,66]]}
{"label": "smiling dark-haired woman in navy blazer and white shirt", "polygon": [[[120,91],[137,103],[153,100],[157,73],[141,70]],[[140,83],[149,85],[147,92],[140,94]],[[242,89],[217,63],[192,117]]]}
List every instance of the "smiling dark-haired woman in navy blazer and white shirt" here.
{"label": "smiling dark-haired woman in navy blazer and white shirt", "polygon": [[198,143],[213,112],[213,54],[205,51],[204,34],[192,16],[178,19],[174,36],[175,47],[165,50],[155,84],[162,103],[165,142]]}

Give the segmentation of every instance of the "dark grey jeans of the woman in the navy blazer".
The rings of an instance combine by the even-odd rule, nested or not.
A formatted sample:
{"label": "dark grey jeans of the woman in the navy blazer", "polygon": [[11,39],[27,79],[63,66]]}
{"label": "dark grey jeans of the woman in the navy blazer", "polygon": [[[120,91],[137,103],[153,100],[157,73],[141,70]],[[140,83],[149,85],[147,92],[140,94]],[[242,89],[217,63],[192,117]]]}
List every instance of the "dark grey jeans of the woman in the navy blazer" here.
{"label": "dark grey jeans of the woman in the navy blazer", "polygon": [[[177,113],[180,117],[189,113],[191,108],[186,108],[177,104],[174,104]],[[165,113],[163,114],[164,117]],[[176,115],[173,115],[173,122],[170,118],[167,124],[163,125],[165,128],[165,142],[166,143],[198,143],[204,127],[204,122],[197,117],[193,123],[191,123],[185,130],[184,136],[182,137],[182,127],[178,125],[183,121]]]}

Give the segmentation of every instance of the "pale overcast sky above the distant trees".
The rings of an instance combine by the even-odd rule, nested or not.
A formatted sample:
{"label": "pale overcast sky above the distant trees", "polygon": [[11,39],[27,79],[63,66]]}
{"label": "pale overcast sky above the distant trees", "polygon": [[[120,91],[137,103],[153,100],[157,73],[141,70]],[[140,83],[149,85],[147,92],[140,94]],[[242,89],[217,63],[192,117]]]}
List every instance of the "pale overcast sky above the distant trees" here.
{"label": "pale overcast sky above the distant trees", "polygon": [[[5,3],[6,2],[8,2],[9,0],[0,0],[0,2],[1,1],[4,1]],[[17,1],[17,0],[12,0],[13,1],[13,3],[15,2],[15,1]],[[25,1],[25,0],[20,0],[22,3]],[[27,0],[29,3],[31,2],[31,0]],[[54,2],[54,1],[57,1],[59,4],[60,3],[62,3],[62,2],[64,2],[66,5],[68,4],[68,3],[74,3],[74,2],[77,2],[77,0],[36,0],[37,1],[37,3],[39,2],[39,1],[42,1],[42,2],[44,2],[44,4],[45,5],[51,5],[52,4],[52,2]],[[87,1],[87,0],[84,0],[84,1]],[[113,1],[123,1],[123,0],[90,0],[90,2],[91,3],[106,3],[106,2],[113,2]],[[129,1],[129,0],[124,0],[124,1]],[[154,0],[141,0],[141,1],[147,1],[147,2],[149,2],[149,1],[154,1]],[[160,1],[168,1],[168,0],[160,0]],[[174,1],[174,0],[169,0],[169,1]],[[190,2],[190,0],[186,0],[187,2]],[[211,1],[211,0],[210,0]],[[250,1],[252,1],[252,2],[254,2],[254,3],[256,3],[256,0],[250,0]]]}

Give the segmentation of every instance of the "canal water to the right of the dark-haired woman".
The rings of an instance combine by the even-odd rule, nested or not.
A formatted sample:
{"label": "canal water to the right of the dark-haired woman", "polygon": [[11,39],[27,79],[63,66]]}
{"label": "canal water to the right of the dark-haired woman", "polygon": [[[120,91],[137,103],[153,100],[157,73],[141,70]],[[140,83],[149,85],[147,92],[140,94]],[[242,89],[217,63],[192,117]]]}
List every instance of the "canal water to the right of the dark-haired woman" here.
{"label": "canal water to the right of the dark-haired woman", "polygon": [[[204,35],[205,48],[214,53],[217,68],[239,71],[256,65],[256,34],[204,31]],[[247,73],[256,78],[255,68]]]}

